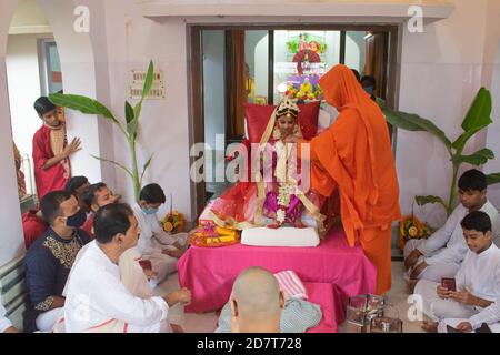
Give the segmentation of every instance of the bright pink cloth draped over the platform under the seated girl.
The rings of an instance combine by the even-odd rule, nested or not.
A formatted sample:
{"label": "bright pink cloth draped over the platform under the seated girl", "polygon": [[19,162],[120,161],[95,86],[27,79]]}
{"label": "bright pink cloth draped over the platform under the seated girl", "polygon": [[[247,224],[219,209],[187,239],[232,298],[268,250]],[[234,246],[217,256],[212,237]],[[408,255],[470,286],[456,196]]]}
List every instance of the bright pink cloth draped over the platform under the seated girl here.
{"label": "bright pink cloth draped over the platform under the seated girl", "polygon": [[191,246],[178,264],[179,283],[192,293],[192,303],[186,312],[222,308],[236,277],[250,266],[261,266],[272,273],[291,270],[303,283],[329,284],[334,328],[344,321],[349,297],[376,291],[377,270],[361,246],[350,247],[343,231],[331,231],[317,247]]}

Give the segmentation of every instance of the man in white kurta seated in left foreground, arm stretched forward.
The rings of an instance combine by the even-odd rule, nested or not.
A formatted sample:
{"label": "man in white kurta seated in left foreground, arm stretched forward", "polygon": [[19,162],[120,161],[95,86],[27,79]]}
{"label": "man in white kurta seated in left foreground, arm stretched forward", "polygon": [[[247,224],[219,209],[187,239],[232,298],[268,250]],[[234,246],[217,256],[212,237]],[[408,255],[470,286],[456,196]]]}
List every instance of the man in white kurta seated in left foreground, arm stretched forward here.
{"label": "man in white kurta seated in left foreground, arm stretched forward", "polygon": [[191,301],[187,288],[149,300],[136,297],[126,288],[118,261],[137,244],[139,233],[130,206],[110,204],[98,211],[96,240],[74,266],[67,286],[66,332],[163,332],[169,329],[169,307]]}

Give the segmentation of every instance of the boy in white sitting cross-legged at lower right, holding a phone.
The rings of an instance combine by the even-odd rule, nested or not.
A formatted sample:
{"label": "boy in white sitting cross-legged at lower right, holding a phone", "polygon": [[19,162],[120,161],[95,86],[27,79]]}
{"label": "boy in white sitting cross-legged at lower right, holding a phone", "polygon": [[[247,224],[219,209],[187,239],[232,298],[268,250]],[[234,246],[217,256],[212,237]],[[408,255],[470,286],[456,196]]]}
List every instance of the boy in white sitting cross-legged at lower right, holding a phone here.
{"label": "boy in white sitting cross-legged at lower right, holding a phone", "polygon": [[468,332],[500,318],[496,303],[500,298],[500,250],[492,242],[491,220],[487,213],[476,211],[461,225],[469,251],[456,276],[457,291],[428,280],[416,286],[422,311],[432,320],[424,322],[428,332],[438,331],[439,323],[449,318],[467,320],[468,325],[460,328]]}

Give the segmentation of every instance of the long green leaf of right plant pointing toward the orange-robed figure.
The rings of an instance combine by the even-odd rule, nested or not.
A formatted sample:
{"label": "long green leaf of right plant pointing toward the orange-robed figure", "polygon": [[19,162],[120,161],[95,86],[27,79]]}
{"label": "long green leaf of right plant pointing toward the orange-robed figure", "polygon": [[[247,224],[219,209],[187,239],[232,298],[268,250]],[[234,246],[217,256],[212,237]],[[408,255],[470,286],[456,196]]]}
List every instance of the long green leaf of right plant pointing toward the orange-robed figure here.
{"label": "long green leaf of right plant pointing toward the orange-robed figure", "polygon": [[447,138],[444,132],[431,121],[422,119],[418,114],[393,111],[389,109],[384,109],[382,111],[390,124],[407,131],[422,131],[432,133],[447,146],[448,150],[451,150],[451,141]]}

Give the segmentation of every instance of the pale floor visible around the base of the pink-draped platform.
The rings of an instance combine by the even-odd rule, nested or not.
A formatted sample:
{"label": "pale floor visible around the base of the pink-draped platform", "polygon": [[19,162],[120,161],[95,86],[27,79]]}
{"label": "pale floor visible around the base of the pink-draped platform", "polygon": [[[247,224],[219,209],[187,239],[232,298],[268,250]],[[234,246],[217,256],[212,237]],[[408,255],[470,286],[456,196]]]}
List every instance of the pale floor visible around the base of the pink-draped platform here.
{"label": "pale floor visible around the base of the pink-draped platform", "polygon": [[[411,306],[408,303],[409,294],[407,285],[402,278],[402,262],[392,263],[392,290],[387,294],[388,303],[397,311],[388,313],[389,316],[398,316],[403,321],[403,333],[422,333],[420,322],[410,322],[408,320],[408,310]],[[179,287],[177,274],[170,275],[166,282],[156,290],[156,295],[166,295]],[[391,312],[391,311],[389,311]],[[213,333],[217,326],[218,316],[214,313],[192,314],[184,313],[180,306],[174,306],[169,313],[170,323],[180,324],[187,333]],[[339,333],[358,333],[360,329],[348,323],[339,325]]]}

